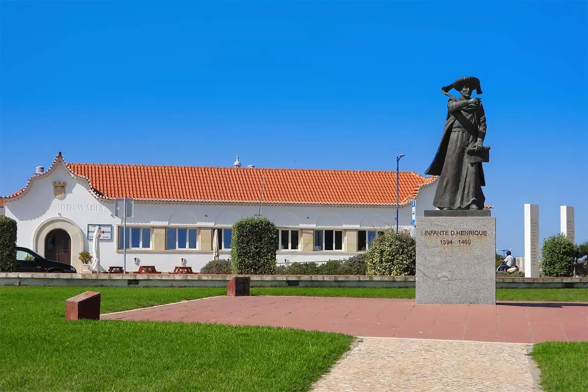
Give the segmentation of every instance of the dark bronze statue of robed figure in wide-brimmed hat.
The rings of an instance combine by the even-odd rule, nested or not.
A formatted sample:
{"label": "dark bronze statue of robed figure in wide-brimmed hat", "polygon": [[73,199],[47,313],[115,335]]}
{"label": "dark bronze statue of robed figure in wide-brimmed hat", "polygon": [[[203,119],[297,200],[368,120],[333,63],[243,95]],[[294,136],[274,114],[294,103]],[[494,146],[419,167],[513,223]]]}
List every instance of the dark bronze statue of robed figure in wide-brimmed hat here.
{"label": "dark bronze statue of robed figure in wide-brimmed hat", "polygon": [[[457,99],[449,94],[455,88],[462,93]],[[441,91],[449,96],[443,138],[428,175],[439,176],[433,206],[442,210],[481,210],[486,185],[482,162],[489,162],[489,147],[483,147],[486,136],[486,115],[480,98],[480,81],[472,76],[457,79]]]}

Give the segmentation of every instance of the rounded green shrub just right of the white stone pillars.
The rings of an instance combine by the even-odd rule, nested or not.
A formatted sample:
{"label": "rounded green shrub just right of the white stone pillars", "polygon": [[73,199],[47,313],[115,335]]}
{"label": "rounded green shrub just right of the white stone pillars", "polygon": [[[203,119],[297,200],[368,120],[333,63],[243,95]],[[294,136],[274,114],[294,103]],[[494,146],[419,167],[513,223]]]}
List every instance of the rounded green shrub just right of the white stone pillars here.
{"label": "rounded green shrub just right of the white stone pillars", "polygon": [[566,277],[574,272],[575,249],[563,234],[554,234],[543,241],[540,269],[543,276]]}

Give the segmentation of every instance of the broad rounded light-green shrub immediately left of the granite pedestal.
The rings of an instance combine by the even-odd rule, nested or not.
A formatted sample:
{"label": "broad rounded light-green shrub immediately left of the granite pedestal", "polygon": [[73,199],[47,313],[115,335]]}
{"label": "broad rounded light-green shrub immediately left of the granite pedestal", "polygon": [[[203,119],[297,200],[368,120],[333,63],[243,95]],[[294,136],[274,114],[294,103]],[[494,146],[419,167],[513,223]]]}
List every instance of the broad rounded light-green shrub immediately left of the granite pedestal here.
{"label": "broad rounded light-green shrub immediately left of the granite pedestal", "polygon": [[416,242],[409,233],[387,230],[373,239],[366,254],[369,275],[414,275]]}

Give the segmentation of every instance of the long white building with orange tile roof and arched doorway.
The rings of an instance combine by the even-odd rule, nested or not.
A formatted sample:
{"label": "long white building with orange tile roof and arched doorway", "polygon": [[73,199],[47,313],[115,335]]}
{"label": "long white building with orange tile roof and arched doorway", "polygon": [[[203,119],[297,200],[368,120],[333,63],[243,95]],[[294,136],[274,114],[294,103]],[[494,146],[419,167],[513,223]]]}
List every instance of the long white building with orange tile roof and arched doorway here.
{"label": "long white building with orange tile roof and arched doorway", "polygon": [[[417,216],[434,209],[435,178],[400,172],[400,229],[413,229],[412,200]],[[183,258],[196,272],[213,259],[215,229],[219,256],[228,259],[233,223],[259,211],[279,227],[278,263],[346,259],[396,226],[395,171],[267,169],[238,160],[233,167],[109,165],[66,163],[60,152],[3,201],[18,223],[19,246],[78,270],[79,253],[91,252],[101,225],[101,267],[108,270],[123,266],[122,219],[115,216],[121,197],[135,199],[126,220],[128,271],[171,271]]]}

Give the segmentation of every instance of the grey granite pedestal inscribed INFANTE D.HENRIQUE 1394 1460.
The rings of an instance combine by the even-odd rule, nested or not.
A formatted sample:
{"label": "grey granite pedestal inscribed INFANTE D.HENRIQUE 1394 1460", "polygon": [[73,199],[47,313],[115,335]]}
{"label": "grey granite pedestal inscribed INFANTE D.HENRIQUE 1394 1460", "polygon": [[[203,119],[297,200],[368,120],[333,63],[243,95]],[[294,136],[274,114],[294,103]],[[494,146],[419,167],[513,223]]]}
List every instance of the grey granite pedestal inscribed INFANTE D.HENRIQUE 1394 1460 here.
{"label": "grey granite pedestal inscribed INFANTE D.HENRIQUE 1394 1460", "polygon": [[489,210],[416,218],[416,303],[496,304],[496,218]]}

